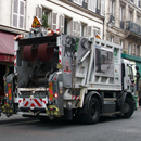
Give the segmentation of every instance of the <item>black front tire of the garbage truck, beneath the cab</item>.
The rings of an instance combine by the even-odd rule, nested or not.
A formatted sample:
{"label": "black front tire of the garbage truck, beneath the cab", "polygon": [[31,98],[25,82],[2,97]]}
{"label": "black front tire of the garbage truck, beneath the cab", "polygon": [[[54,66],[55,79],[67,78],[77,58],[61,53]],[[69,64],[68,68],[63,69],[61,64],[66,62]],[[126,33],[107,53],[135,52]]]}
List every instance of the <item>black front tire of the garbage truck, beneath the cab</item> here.
{"label": "black front tire of the garbage truck, beneath the cab", "polygon": [[130,98],[126,98],[124,103],[124,118],[129,118],[134,112],[134,104]]}

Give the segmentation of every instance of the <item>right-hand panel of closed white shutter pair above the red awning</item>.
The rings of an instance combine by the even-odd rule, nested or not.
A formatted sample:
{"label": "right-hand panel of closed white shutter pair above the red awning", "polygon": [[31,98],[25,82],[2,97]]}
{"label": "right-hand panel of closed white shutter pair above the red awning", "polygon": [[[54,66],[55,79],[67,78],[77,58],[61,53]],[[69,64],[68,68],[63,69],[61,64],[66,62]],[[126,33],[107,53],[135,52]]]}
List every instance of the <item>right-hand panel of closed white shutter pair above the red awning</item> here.
{"label": "right-hand panel of closed white shutter pair above the red awning", "polygon": [[20,1],[20,23],[18,27],[24,28],[25,1]]}

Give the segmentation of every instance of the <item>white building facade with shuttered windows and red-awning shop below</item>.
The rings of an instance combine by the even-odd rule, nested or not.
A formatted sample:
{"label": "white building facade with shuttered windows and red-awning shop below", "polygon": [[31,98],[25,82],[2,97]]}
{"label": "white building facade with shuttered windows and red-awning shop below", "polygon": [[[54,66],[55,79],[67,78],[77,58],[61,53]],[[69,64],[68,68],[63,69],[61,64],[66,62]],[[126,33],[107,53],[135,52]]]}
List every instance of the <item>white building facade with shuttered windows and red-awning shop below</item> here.
{"label": "white building facade with shuttered windows and red-awning shop below", "polygon": [[14,36],[30,31],[34,16],[46,16],[48,28],[63,34],[103,38],[104,8],[105,0],[0,0],[0,95],[14,61]]}

